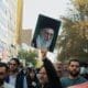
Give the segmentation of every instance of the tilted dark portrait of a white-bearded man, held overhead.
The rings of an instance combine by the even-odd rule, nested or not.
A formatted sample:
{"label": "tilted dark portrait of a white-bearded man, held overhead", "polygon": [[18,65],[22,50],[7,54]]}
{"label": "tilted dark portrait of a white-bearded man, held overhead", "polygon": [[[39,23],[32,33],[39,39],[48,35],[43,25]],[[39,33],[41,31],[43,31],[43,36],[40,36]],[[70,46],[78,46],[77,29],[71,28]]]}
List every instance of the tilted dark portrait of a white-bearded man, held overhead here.
{"label": "tilted dark portrait of a white-bearded man, held overhead", "polygon": [[53,52],[59,26],[61,21],[40,14],[31,45]]}

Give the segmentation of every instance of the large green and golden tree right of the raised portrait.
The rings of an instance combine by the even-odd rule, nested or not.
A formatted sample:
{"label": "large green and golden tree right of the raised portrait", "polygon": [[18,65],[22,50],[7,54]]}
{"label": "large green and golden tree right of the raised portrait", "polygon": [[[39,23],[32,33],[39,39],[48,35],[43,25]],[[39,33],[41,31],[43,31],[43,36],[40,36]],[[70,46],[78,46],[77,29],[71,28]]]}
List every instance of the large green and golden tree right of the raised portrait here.
{"label": "large green and golden tree right of the raised portrait", "polygon": [[[70,0],[73,9],[63,16],[63,33],[58,40],[62,47],[58,59],[67,61],[70,56],[78,56],[87,61],[88,56],[88,0]],[[81,58],[82,57],[82,58]]]}

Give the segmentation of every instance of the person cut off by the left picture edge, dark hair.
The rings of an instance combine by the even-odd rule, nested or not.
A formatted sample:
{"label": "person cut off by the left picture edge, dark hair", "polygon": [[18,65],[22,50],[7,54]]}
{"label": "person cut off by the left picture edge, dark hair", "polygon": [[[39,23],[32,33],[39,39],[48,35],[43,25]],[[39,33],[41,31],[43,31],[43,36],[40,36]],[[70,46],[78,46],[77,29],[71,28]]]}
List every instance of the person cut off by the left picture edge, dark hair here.
{"label": "person cut off by the left picture edge, dark hair", "polygon": [[8,69],[8,65],[0,62],[0,88],[14,88],[10,84],[6,82]]}

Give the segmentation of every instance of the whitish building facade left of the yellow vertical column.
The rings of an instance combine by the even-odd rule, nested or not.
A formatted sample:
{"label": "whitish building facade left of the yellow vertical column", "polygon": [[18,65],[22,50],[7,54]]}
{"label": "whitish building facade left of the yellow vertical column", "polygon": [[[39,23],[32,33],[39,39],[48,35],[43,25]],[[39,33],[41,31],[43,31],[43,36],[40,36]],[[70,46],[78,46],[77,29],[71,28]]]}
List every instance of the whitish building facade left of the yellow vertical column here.
{"label": "whitish building facade left of the yellow vertical column", "polygon": [[0,58],[8,58],[14,43],[18,0],[0,0]]}

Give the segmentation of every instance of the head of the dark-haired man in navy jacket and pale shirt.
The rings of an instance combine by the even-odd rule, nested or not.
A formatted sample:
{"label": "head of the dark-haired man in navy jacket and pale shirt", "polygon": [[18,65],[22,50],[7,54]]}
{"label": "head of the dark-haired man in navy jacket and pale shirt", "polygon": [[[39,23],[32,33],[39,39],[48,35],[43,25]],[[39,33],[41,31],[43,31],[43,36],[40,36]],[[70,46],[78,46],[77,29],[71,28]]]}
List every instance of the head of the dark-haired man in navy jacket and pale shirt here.
{"label": "head of the dark-haired man in navy jacket and pale shirt", "polygon": [[12,58],[9,62],[10,72],[16,73],[20,66],[20,61],[18,58]]}

